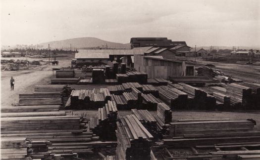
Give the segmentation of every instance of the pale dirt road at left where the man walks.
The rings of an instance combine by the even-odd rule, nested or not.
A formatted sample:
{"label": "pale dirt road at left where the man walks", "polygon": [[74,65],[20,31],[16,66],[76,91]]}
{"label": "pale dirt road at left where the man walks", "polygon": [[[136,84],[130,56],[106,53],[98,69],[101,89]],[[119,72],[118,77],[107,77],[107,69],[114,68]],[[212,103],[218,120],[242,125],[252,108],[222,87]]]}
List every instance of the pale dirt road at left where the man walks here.
{"label": "pale dirt road at left where the man walks", "polygon": [[[70,57],[57,58],[59,65],[55,67],[68,67],[71,59]],[[19,102],[19,94],[32,93],[35,85],[50,84],[52,67],[52,65],[42,65],[25,71],[1,72],[1,106],[15,105]],[[10,87],[11,76],[15,80],[13,91]]]}

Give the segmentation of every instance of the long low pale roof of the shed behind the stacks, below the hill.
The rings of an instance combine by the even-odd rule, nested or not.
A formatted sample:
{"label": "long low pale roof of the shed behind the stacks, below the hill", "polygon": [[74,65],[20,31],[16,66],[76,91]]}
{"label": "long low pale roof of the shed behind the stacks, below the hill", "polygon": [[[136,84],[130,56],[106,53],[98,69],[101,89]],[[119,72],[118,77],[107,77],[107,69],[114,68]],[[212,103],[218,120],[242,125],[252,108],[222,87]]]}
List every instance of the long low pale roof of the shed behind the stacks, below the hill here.
{"label": "long low pale roof of the shed behind the stacks, below the hill", "polygon": [[79,49],[80,54],[103,53],[108,55],[135,55],[144,53],[152,47],[137,47],[133,49]]}

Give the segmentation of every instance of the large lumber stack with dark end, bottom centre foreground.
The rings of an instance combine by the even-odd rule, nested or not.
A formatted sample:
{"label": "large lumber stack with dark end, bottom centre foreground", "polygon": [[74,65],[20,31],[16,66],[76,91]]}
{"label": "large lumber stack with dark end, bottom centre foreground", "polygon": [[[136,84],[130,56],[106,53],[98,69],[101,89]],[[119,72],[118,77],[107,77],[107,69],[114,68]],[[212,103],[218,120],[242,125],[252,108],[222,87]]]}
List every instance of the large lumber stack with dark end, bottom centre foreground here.
{"label": "large lumber stack with dark end, bottom centre foreground", "polygon": [[151,160],[154,137],[136,116],[119,117],[116,125],[117,160]]}

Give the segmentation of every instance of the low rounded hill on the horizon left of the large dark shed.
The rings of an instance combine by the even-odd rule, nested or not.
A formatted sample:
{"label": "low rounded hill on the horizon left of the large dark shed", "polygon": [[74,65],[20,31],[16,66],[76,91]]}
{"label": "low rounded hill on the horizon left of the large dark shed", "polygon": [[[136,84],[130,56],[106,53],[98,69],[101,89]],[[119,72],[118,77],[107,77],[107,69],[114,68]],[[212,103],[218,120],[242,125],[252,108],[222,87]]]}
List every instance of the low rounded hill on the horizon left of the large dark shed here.
{"label": "low rounded hill on the horizon left of the large dark shed", "polygon": [[40,43],[40,44],[38,44],[38,49],[48,48],[48,44],[50,44],[50,47],[52,49],[53,48],[69,49],[70,44],[71,44],[72,49],[74,49],[74,48],[83,49],[83,48],[93,48],[93,47],[105,48],[106,44],[107,44],[108,48],[130,48],[130,43],[123,44],[123,43],[116,43],[116,42],[101,40],[101,39],[94,38],[94,37],[84,37],[84,38],[56,40],[56,41]]}

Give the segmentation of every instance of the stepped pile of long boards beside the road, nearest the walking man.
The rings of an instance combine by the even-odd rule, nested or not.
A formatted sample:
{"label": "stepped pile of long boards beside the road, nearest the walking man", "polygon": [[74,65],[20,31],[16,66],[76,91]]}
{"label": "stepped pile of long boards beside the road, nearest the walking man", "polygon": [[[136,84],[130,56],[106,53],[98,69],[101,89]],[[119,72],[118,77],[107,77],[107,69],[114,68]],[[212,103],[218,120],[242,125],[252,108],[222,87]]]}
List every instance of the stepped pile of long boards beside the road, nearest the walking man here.
{"label": "stepped pile of long boards beside the road, nearest the walking man", "polygon": [[19,106],[64,106],[71,90],[67,85],[36,85],[32,94],[19,94]]}

